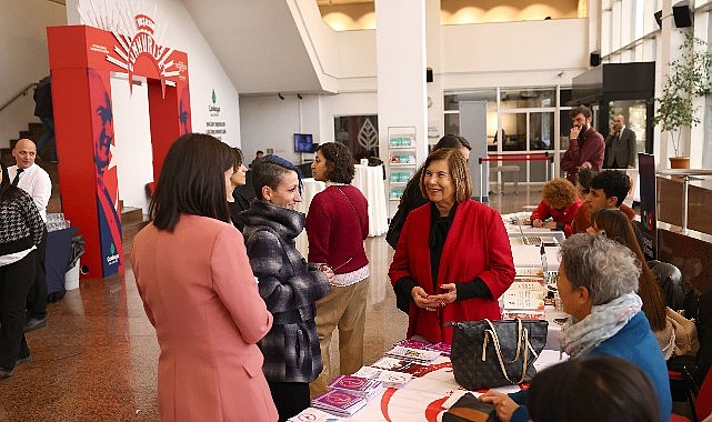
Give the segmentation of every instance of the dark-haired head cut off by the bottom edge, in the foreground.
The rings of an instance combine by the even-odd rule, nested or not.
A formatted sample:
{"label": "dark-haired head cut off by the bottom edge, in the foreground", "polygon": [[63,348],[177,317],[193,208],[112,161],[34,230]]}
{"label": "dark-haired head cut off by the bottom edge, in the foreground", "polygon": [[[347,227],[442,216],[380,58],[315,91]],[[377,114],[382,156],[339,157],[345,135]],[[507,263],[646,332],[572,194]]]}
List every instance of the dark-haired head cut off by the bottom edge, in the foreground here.
{"label": "dark-haired head cut off by the bottom edge, in the foreground", "polygon": [[655,389],[635,364],[614,356],[572,359],[532,380],[533,422],[659,422]]}

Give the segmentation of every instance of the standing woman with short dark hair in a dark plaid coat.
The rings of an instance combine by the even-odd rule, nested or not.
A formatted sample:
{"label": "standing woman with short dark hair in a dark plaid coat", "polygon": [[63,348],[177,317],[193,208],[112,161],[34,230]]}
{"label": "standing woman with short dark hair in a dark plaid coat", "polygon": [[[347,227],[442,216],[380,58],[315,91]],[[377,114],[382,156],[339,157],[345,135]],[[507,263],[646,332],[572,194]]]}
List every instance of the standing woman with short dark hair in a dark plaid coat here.
{"label": "standing woman with short dark hair in a dark plaid coat", "polygon": [[304,229],[304,214],[294,210],[302,200],[297,167],[265,155],[252,171],[258,197],[240,218],[260,295],[274,315],[272,329],[258,345],[279,420],[285,421],[309,408],[309,383],[321,373],[314,303],[329,293],[334,274],[325,263],[308,265],[294,245]]}

